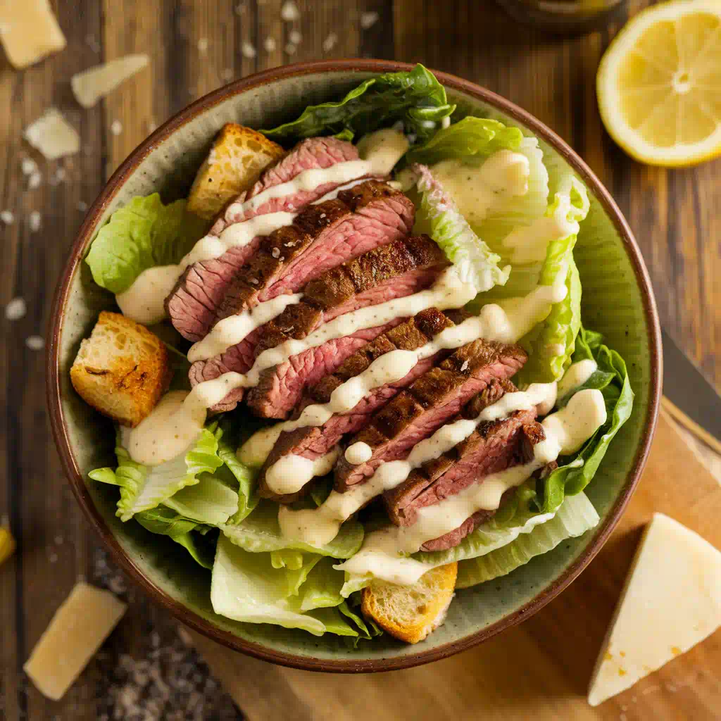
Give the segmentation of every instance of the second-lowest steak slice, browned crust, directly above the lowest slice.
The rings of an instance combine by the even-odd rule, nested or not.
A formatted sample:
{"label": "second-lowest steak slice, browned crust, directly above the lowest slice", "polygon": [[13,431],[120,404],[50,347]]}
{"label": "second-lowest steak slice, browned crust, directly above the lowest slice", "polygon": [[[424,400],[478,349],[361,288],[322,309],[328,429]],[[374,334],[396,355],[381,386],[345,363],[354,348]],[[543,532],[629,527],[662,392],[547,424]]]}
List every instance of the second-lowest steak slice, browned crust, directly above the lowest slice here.
{"label": "second-lowest steak slice, browned crust, directly above the lowest slice", "polygon": [[341,457],[335,466],[335,489],[348,490],[373,475],[381,463],[407,456],[412,446],[441,428],[492,381],[513,376],[526,359],[518,345],[466,343],[399,393],[353,436],[349,443],[368,443],[373,455],[357,466]]}

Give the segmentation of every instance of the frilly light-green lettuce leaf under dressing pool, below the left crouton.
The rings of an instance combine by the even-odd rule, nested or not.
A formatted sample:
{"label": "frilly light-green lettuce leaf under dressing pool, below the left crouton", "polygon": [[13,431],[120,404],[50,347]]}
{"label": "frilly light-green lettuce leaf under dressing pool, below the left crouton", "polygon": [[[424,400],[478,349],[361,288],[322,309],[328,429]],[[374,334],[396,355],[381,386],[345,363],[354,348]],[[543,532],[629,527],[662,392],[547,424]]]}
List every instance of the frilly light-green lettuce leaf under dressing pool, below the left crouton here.
{"label": "frilly light-green lettuce leaf under dressing pool, below the left crouton", "polygon": [[120,433],[115,446],[118,468],[91,471],[89,477],[102,483],[120,487],[120,500],[115,513],[121,521],[128,521],[141,510],[149,510],[164,503],[186,486],[200,482],[201,473],[213,473],[223,461],[218,457],[218,438],[209,428],[203,428],[193,448],[185,456],[158,466],[143,466],[133,461],[123,448]]}

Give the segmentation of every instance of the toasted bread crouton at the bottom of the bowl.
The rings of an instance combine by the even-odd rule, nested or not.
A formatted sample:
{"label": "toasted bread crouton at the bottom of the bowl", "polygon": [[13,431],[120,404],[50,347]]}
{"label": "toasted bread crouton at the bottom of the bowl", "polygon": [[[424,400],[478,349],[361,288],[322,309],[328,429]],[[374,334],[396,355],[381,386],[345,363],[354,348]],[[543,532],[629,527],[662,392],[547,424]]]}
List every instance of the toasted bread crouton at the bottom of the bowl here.
{"label": "toasted bread crouton at the bottom of the bowl", "polygon": [[446,620],[457,574],[454,562],[433,568],[410,586],[373,581],[363,588],[361,611],[397,639],[423,641]]}

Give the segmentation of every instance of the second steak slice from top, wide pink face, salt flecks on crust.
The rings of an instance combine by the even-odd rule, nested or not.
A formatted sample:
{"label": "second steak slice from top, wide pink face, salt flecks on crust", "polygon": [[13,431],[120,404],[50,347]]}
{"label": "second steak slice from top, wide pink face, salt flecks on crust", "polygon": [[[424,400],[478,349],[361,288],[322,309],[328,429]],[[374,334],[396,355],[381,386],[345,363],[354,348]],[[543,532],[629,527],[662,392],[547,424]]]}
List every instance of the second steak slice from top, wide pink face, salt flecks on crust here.
{"label": "second steak slice from top, wide pink face, salt flecks on crust", "polygon": [[414,218],[411,200],[379,180],[342,190],[336,200],[309,205],[292,225],[262,239],[227,289],[216,319],[295,293],[326,270],[407,236]]}

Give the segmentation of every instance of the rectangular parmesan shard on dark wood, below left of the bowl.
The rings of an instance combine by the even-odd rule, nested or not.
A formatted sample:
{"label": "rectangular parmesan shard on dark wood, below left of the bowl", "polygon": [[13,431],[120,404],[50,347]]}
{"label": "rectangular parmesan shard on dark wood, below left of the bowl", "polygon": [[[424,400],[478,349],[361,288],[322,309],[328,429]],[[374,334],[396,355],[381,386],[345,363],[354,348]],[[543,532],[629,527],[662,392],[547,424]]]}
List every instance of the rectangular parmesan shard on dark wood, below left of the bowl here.
{"label": "rectangular parmesan shard on dark wood, below left of the bowl", "polygon": [[110,591],[77,583],[23,666],[38,691],[61,699],[127,608]]}

